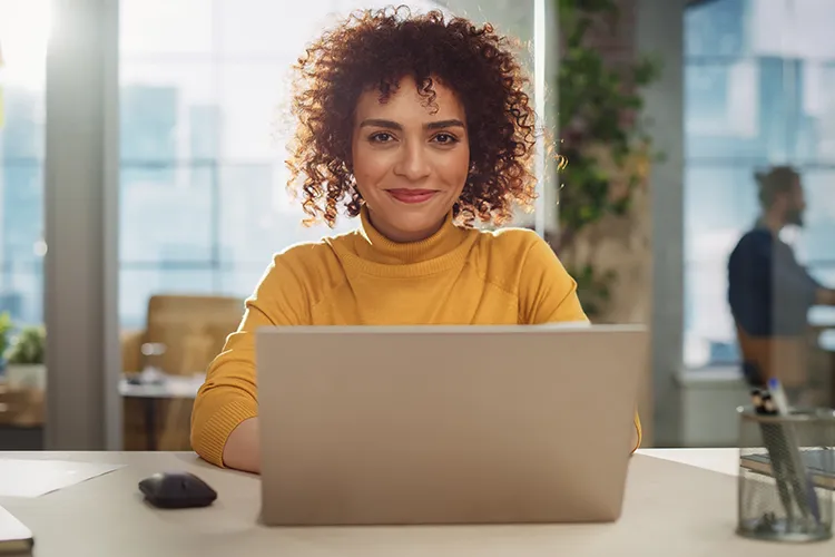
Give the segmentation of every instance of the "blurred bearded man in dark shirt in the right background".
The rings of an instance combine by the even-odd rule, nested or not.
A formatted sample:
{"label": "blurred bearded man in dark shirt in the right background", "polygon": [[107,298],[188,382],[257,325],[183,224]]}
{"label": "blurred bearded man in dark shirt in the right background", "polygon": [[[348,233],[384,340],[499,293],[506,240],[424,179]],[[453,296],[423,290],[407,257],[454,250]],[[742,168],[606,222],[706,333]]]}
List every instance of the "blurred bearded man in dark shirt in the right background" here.
{"label": "blurred bearded man in dark shirt in the right background", "polygon": [[[728,260],[728,302],[738,329],[750,338],[802,338],[813,305],[835,304],[835,291],[822,286],[779,238],[785,226],[803,226],[806,208],[799,174],[788,166],[757,173],[763,213]],[[743,370],[762,384],[763,370],[750,361]]]}

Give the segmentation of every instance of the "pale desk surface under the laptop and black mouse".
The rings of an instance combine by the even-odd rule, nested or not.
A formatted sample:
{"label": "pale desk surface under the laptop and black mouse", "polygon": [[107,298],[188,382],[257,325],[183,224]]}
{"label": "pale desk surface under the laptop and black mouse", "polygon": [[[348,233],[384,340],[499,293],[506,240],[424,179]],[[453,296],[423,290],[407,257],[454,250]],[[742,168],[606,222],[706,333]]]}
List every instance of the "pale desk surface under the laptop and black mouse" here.
{"label": "pale desk surface under the laptop and black mouse", "polygon": [[[257,477],[219,470],[191,453],[0,453],[8,458],[125,463],[111,473],[35,499],[0,498],[53,556],[829,556],[835,541],[785,545],[734,534],[734,449],[641,450],[630,461],[622,518],[609,525],[265,528]],[[187,469],[217,491],[205,509],[156,510],[137,482]]]}

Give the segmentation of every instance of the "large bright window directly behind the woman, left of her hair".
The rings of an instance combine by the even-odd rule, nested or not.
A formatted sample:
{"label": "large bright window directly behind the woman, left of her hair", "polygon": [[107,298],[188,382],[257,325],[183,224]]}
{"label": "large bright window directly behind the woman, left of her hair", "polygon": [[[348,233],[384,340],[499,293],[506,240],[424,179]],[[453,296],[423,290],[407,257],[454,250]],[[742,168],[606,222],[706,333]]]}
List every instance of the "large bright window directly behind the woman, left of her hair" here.
{"label": "large bright window directly behind the woman, left of her hair", "polygon": [[[305,42],[356,3],[120,8],[119,312],[122,326],[140,328],[154,293],[247,296],[275,252],[332,233],[302,227],[301,208],[286,198],[289,129],[275,116]],[[354,225],[342,219],[333,232]]]}

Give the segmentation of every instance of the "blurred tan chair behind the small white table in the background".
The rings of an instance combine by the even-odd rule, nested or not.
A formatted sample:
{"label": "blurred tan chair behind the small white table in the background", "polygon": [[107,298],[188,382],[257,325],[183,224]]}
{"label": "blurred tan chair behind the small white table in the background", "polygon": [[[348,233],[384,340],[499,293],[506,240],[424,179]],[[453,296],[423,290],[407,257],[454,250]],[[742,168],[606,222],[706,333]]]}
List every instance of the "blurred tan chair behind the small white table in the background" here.
{"label": "blurred tan chair behind the small white table in the background", "polygon": [[[243,316],[244,301],[230,296],[154,295],[148,300],[147,326],[121,334],[122,369],[140,371],[153,363],[166,373],[191,375],[205,372],[223,349]],[[148,361],[143,344],[165,345],[161,356]],[[125,449],[146,450],[145,404],[140,399],[125,400]],[[190,450],[190,399],[155,402],[160,424],[159,450]]]}

